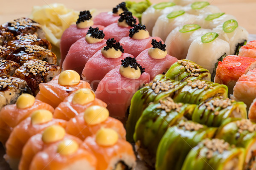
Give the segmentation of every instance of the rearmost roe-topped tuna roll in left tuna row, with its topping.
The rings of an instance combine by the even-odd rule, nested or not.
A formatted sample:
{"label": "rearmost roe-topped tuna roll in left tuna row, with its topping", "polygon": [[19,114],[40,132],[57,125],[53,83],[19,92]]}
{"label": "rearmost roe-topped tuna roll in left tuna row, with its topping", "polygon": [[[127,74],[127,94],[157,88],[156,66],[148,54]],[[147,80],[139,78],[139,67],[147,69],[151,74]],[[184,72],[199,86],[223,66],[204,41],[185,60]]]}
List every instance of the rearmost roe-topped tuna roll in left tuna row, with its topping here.
{"label": "rearmost roe-topped tuna roll in left tuna row, with its topping", "polygon": [[67,56],[67,52],[69,51],[71,45],[75,43],[77,40],[79,40],[80,38],[85,37],[90,26],[93,28],[98,27],[99,30],[103,30],[105,28],[105,26],[98,26],[93,24],[92,15],[90,14],[90,11],[80,11],[79,18],[77,19],[76,24],[73,24],[69,28],[67,28],[61,36],[60,66],[62,66],[62,63],[65,57]]}

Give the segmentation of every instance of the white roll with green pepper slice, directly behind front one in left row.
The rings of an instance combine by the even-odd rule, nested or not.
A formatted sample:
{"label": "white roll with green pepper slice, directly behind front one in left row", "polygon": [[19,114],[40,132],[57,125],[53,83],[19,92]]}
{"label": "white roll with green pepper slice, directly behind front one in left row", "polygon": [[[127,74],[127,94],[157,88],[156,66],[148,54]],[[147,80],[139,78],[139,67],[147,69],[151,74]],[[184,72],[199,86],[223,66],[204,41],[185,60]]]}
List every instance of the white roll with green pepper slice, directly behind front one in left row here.
{"label": "white roll with green pepper slice, directly behind front one in left row", "polygon": [[[195,27],[191,31],[183,31],[186,26]],[[176,57],[177,59],[185,59],[191,42],[197,37],[201,37],[207,32],[211,32],[210,29],[200,28],[199,25],[186,26],[176,27],[170,32],[165,41],[167,54]]]}

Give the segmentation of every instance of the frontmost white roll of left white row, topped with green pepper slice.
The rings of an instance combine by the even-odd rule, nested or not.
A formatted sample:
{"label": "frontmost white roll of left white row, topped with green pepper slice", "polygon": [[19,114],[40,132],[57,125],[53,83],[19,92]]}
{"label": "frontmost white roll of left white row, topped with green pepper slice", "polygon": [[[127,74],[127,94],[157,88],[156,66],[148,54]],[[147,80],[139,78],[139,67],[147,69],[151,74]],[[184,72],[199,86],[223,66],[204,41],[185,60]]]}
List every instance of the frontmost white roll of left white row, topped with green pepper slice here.
{"label": "frontmost white roll of left white row, topped with green pepper slice", "polygon": [[[202,42],[202,37],[206,37],[209,34],[213,34],[212,36],[209,36],[212,37],[211,40],[209,38],[208,42]],[[197,37],[189,46],[189,51],[186,56],[186,59],[201,65],[209,70],[210,73],[213,73],[218,59],[220,59],[224,54],[228,55],[230,51],[229,43],[216,38],[217,36],[214,34],[216,33],[207,33],[202,37]]]}

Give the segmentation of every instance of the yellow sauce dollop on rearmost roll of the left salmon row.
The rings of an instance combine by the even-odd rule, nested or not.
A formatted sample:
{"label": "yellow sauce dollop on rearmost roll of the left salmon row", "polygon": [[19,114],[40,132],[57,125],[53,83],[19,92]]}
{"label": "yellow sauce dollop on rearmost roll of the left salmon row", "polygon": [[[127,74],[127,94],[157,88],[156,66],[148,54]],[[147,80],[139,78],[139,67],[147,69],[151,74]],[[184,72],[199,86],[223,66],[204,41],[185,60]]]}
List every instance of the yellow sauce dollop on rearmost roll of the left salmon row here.
{"label": "yellow sauce dollop on rearmost roll of the left salmon row", "polygon": [[16,102],[17,108],[24,109],[28,108],[35,103],[35,97],[31,94],[21,94]]}

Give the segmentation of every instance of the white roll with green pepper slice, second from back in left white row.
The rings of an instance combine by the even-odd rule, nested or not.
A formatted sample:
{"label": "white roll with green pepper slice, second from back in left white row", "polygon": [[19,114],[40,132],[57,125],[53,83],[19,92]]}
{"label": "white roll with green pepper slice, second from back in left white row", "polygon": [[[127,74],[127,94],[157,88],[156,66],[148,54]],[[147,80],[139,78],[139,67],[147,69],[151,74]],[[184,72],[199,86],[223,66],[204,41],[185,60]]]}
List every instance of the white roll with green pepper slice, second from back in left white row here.
{"label": "white roll with green pepper slice, second from back in left white row", "polygon": [[[178,13],[178,16],[176,15]],[[181,14],[182,13],[182,14]],[[180,15],[179,15],[180,14]],[[169,16],[175,16],[168,18]],[[173,11],[170,14],[163,14],[158,17],[152,31],[153,37],[160,37],[162,40],[166,40],[168,34],[177,26],[184,26],[186,24],[193,24],[196,16],[187,14],[185,11]]]}

